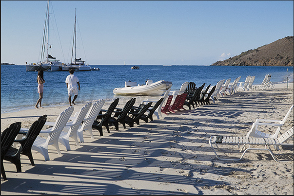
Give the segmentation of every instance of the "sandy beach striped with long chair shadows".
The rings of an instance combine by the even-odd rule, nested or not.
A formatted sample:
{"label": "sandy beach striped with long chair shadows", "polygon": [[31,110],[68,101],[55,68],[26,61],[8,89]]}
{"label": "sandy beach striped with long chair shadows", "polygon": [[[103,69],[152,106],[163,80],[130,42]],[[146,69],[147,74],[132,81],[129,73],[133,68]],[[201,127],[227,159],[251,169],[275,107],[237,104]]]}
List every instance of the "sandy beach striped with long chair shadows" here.
{"label": "sandy beach striped with long chair shadows", "polygon": [[[111,126],[84,132],[84,143],[62,155],[49,146],[49,161],[33,151],[35,166],[21,155],[21,173],[4,160],[8,180],[1,195],[293,195],[293,146],[273,152],[248,151],[240,161],[216,159],[208,141],[213,135],[246,136],[256,119],[282,120],[293,105],[293,83],[221,97],[211,105],[165,115],[119,131]],[[143,98],[141,98],[143,99]],[[126,100],[121,99],[120,108]],[[107,109],[108,101],[103,109]],[[137,99],[136,106],[140,100]],[[86,103],[77,104],[74,113]],[[64,107],[44,107],[1,114],[1,131],[14,122],[29,128],[39,116],[55,122]],[[188,109],[188,107],[185,107]],[[73,113],[73,114],[74,114]],[[292,110],[281,133],[294,125]],[[268,128],[264,132],[273,132]],[[292,142],[293,143],[293,142]],[[234,152],[236,145],[230,147]],[[226,153],[235,156],[236,153]],[[220,155],[224,155],[220,152]]]}

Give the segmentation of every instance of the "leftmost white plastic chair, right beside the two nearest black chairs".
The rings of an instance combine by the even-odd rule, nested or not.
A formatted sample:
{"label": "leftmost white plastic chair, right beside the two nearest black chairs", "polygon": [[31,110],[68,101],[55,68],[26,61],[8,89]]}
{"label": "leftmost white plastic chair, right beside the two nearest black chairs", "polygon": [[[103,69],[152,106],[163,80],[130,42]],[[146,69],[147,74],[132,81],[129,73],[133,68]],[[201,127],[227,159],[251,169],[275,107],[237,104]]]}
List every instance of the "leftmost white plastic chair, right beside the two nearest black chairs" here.
{"label": "leftmost white plastic chair, right beside the two nearest black chairs", "polygon": [[40,134],[47,133],[48,137],[47,139],[44,139],[38,136],[33,143],[32,150],[36,150],[41,153],[44,156],[45,160],[50,160],[48,154],[48,145],[53,145],[56,148],[58,154],[61,155],[58,139],[62,129],[68,122],[69,117],[72,115],[73,111],[73,106],[66,108],[63,112],[59,114],[53,127],[46,130],[41,130]]}

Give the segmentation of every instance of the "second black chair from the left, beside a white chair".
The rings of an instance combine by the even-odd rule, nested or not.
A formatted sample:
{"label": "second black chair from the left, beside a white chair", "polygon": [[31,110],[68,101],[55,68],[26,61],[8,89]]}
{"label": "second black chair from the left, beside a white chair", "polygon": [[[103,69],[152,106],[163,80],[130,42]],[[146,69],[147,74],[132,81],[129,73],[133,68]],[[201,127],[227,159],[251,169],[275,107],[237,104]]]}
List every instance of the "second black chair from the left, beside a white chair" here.
{"label": "second black chair from the left, beside a white chair", "polygon": [[[31,164],[35,165],[31,149],[42,127],[45,125],[46,120],[47,115],[43,115],[31,125],[27,132],[19,132],[21,139],[14,140],[14,143],[20,143],[21,146],[19,148],[14,148],[10,146],[10,148],[8,149],[4,160],[8,160],[14,163],[17,167],[18,172],[21,172],[20,154],[26,155],[31,161]],[[25,135],[23,138],[22,134]]]}

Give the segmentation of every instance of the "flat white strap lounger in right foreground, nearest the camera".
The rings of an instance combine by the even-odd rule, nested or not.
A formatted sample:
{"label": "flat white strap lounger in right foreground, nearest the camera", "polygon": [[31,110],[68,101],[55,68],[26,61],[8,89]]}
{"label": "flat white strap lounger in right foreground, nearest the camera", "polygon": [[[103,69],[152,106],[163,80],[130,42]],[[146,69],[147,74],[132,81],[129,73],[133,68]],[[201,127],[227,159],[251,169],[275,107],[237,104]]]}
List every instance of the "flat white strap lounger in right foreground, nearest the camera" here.
{"label": "flat white strap lounger in right foreground, nearest the camera", "polygon": [[[211,148],[213,149],[214,153],[216,154],[216,150],[213,147],[213,144],[216,145],[217,149],[218,144],[231,144],[231,145],[243,145],[243,148],[240,152],[244,150],[241,157],[239,159],[222,159],[219,158],[219,156],[216,154],[216,158],[219,160],[241,160],[245,153],[248,150],[267,150],[271,153],[273,159],[275,161],[278,161],[274,157],[274,153],[270,149],[270,146],[281,146],[281,145],[293,145],[293,143],[286,143],[287,140],[290,138],[293,139],[293,127],[290,128],[288,131],[283,133],[278,138],[253,138],[253,137],[231,137],[231,136],[211,136],[209,139],[209,144]],[[246,148],[246,145],[249,145],[249,148]],[[264,148],[253,148],[251,145],[263,145]],[[230,153],[231,154],[231,153]],[[292,161],[292,160],[291,160]]]}

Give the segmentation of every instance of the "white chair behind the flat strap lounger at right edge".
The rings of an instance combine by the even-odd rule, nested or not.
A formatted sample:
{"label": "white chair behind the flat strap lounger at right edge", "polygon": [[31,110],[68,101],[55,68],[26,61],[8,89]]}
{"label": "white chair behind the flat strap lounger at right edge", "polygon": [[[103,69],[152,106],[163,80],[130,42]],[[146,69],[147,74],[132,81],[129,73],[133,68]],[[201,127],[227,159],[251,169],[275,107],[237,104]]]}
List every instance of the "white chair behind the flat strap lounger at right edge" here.
{"label": "white chair behind the flat strap lounger at right edge", "polygon": [[[256,119],[255,123],[253,123],[252,128],[247,133],[246,137],[256,137],[256,138],[277,138],[278,134],[280,132],[280,128],[282,125],[285,124],[288,116],[291,113],[291,110],[293,109],[292,105],[290,109],[288,110],[287,114],[285,115],[283,120],[270,120],[270,119]],[[277,126],[277,129],[274,134],[264,133],[260,130],[258,130],[258,125],[265,125],[265,126]]]}

